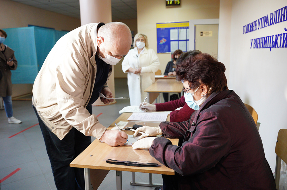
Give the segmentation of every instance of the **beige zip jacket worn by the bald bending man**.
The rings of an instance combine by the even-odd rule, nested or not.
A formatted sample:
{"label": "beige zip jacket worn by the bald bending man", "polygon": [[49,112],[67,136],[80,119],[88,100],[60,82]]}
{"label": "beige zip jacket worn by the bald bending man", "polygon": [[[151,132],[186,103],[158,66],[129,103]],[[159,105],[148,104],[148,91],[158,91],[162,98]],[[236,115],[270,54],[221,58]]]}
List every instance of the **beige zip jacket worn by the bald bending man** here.
{"label": "beige zip jacket worn by the bald bending man", "polygon": [[[75,127],[100,139],[106,127],[85,108],[97,73],[97,26],[90,23],[61,37],[52,48],[33,86],[32,103],[59,139]],[[108,77],[111,74],[108,75]]]}

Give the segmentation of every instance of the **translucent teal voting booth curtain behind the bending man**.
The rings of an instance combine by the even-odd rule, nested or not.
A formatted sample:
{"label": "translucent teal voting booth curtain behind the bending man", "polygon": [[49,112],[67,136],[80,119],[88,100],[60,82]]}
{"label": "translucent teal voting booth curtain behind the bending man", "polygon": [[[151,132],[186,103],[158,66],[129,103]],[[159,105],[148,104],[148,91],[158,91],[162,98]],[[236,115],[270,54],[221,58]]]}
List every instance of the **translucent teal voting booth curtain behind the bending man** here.
{"label": "translucent teal voting booth curtain behind the bending man", "polygon": [[67,31],[42,27],[3,29],[7,33],[5,44],[15,51],[18,67],[12,72],[13,84],[32,84],[48,53]]}

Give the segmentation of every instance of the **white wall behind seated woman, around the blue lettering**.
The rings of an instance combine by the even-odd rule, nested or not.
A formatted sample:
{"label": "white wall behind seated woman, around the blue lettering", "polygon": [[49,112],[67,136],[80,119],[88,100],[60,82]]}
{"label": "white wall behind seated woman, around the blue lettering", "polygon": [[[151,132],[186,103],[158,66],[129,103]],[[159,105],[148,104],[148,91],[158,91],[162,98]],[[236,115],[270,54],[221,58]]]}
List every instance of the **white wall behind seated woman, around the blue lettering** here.
{"label": "white wall behind seated woman, around the blue lettering", "polygon": [[[243,26],[263,16],[270,17],[270,13],[286,5],[286,0],[220,0],[219,61],[230,61],[229,65],[227,63],[229,89],[233,89],[258,113],[259,133],[273,172],[278,131],[287,127],[287,94],[284,93],[287,91],[287,48],[271,48],[270,51],[269,48],[250,47],[251,39],[286,33],[287,21],[245,34]],[[221,16],[230,13],[228,23],[228,19]],[[225,30],[230,30],[230,40],[224,37]],[[228,51],[224,54],[229,45],[230,55]]]}

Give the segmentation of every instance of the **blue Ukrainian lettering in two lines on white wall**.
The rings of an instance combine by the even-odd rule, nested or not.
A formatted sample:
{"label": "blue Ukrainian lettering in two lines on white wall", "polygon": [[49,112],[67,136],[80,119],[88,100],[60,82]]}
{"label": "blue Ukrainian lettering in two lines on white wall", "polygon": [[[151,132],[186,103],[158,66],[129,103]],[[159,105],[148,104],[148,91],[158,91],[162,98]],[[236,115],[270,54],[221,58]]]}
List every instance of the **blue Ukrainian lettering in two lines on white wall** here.
{"label": "blue Ukrainian lettering in two lines on white wall", "polygon": [[[261,17],[252,23],[249,23],[243,26],[243,34],[253,32],[267,26],[271,26],[277,23],[287,21],[287,6],[282,7],[274,13],[270,13],[264,17]],[[287,31],[287,27],[284,28],[284,31]],[[265,36],[260,38],[251,39],[250,49],[256,48],[286,48],[287,47],[287,33],[275,34],[271,36]]]}

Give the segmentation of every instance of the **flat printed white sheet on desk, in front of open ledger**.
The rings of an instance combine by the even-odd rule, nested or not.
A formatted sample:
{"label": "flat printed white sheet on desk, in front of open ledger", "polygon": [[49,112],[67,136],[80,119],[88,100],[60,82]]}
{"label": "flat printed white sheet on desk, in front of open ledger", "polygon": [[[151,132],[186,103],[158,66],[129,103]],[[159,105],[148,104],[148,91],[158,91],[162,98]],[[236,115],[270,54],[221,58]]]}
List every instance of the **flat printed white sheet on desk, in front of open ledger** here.
{"label": "flat printed white sheet on desk, in front of open ledger", "polygon": [[133,113],[127,120],[132,121],[166,121],[168,113]]}

